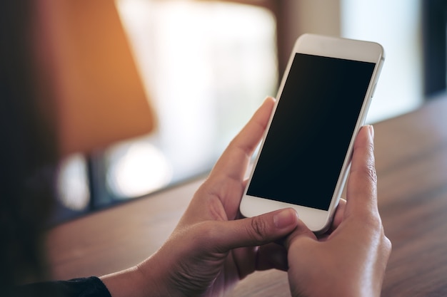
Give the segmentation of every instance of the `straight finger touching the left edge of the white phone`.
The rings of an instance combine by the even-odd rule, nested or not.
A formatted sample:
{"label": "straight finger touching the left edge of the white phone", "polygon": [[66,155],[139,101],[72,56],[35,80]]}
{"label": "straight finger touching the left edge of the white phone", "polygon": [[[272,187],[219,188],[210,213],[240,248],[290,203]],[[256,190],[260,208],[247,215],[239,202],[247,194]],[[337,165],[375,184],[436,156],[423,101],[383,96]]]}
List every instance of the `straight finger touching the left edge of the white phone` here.
{"label": "straight finger touching the left edge of the white phone", "polygon": [[274,104],[273,98],[264,100],[251,120],[230,142],[214,166],[214,170],[211,171],[211,174],[219,172],[219,174],[223,173],[233,179],[243,179],[248,160],[250,160],[253,151],[261,140],[263,132],[266,130]]}

